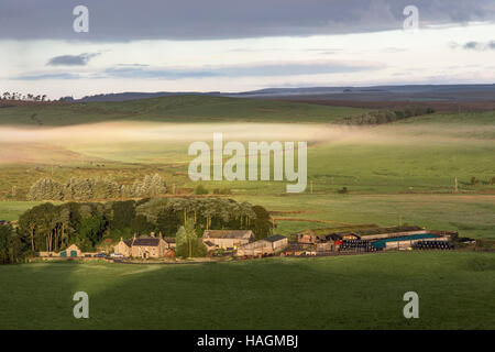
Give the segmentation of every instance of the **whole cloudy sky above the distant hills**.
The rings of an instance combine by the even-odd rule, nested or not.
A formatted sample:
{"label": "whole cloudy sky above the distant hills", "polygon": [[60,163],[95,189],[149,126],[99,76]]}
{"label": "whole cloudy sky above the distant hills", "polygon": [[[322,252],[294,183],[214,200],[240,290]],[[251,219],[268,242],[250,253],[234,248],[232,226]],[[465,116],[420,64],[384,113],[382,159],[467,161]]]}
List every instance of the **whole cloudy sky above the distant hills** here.
{"label": "whole cloudy sky above the distant hills", "polygon": [[2,0],[0,54],[0,94],[51,99],[493,84],[495,0]]}

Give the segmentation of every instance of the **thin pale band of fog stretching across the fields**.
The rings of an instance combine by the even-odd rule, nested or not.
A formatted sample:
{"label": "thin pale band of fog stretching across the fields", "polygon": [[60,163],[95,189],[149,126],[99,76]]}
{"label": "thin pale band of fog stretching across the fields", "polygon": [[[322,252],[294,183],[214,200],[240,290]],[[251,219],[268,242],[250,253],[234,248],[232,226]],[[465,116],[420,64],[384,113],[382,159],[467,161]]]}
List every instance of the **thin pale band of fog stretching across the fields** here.
{"label": "thin pale band of fog stretching across the fields", "polygon": [[[403,124],[348,127],[302,123],[155,123],[105,122],[61,128],[0,127],[0,143],[111,143],[211,141],[213,133],[235,141],[365,141],[398,143],[435,134],[440,139],[487,139],[495,125]],[[430,139],[428,139],[430,140]]]}

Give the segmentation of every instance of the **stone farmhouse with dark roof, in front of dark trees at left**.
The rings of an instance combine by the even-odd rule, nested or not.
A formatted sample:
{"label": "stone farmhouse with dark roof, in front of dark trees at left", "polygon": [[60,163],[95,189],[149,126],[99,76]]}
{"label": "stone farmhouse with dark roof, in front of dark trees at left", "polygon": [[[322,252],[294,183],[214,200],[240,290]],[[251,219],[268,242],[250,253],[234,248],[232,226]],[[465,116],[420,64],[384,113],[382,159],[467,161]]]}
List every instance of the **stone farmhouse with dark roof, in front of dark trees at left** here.
{"label": "stone farmhouse with dark roof, in front of dark trees at left", "polygon": [[[170,240],[170,242],[173,242]],[[174,243],[175,244],[175,243]],[[123,240],[113,248],[114,253],[122,254],[125,257],[164,257],[169,255],[172,243],[167,243],[162,237],[140,237]]]}

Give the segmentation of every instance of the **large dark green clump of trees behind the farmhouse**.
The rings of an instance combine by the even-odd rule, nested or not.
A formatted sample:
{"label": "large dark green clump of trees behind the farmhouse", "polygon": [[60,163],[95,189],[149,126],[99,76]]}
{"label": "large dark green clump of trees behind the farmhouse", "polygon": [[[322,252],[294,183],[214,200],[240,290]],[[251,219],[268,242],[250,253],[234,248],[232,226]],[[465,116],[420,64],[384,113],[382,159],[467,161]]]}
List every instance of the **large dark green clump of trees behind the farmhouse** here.
{"label": "large dark green clump of trees behind the farmhouse", "polygon": [[16,253],[57,252],[73,243],[91,251],[105,239],[151,232],[177,234],[180,253],[202,255],[205,249],[197,239],[206,229],[250,229],[261,239],[271,234],[272,222],[263,207],[232,199],[146,198],[58,206],[46,202],[25,211],[16,232],[2,228],[6,233],[0,232],[0,262],[10,261],[4,258],[15,257]]}

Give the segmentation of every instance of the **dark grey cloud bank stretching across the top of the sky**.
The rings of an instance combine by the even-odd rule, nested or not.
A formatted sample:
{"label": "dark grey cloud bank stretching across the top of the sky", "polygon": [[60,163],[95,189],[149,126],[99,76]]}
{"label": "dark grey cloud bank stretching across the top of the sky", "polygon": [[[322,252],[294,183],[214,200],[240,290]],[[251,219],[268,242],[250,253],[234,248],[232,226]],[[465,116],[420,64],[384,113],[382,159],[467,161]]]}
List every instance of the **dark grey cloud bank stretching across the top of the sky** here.
{"label": "dark grey cloud bank stretching across the top of the sky", "polygon": [[397,30],[411,3],[421,25],[495,20],[493,0],[86,0],[89,33],[75,33],[79,0],[2,0],[0,38],[207,40]]}

